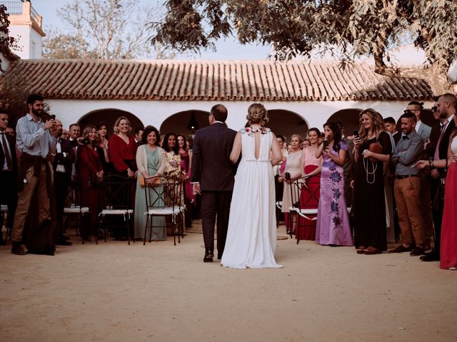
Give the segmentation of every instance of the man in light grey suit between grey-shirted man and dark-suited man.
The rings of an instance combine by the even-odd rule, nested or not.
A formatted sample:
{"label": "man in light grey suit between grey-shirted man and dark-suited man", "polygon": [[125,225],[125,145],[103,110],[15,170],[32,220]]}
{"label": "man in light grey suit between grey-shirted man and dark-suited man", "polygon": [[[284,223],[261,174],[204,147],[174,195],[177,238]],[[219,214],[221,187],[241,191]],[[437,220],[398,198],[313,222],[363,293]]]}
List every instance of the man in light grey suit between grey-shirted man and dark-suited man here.
{"label": "man in light grey suit between grey-shirted man and dark-suited man", "polygon": [[[421,138],[424,141],[424,153],[425,153],[425,147],[426,143],[430,142],[430,133],[431,133],[431,127],[429,125],[426,125],[421,121],[421,113],[423,110],[423,102],[417,102],[417,101],[411,101],[408,103],[406,106],[406,112],[411,112],[414,115],[416,115],[416,132],[418,135],[421,135]],[[425,157],[425,155],[423,155]],[[431,216],[431,205],[430,205],[430,187],[428,186],[428,181],[426,180],[425,174],[422,172],[420,175],[420,181],[421,181],[421,193],[419,194],[421,196],[421,212],[423,215],[423,227],[424,227],[424,234],[425,234],[425,241],[424,241],[424,247],[426,250],[430,249],[430,242],[431,242],[431,236],[433,234],[433,219]]]}

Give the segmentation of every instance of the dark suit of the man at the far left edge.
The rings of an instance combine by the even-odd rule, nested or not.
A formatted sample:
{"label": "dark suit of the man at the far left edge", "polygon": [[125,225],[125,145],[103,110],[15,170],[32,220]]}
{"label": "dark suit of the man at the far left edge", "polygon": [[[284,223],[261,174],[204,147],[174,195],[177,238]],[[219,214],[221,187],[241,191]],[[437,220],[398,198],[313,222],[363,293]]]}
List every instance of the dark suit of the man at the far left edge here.
{"label": "dark suit of the man at the far left edge", "polygon": [[[5,162],[5,154],[3,148],[0,145],[0,202],[6,204],[8,207],[8,219],[6,221],[6,227],[13,227],[14,213],[16,212],[17,205],[17,157],[16,157],[16,140],[10,135],[5,135],[6,141],[11,151],[11,161],[13,162],[12,171],[4,171],[3,166]],[[0,215],[0,229],[3,227],[3,215]]]}

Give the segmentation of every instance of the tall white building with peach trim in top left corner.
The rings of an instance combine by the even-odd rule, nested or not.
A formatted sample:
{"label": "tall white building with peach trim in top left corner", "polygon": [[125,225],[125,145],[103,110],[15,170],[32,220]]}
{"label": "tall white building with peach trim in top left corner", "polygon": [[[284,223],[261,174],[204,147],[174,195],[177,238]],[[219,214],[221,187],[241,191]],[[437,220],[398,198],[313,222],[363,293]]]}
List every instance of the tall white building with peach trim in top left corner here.
{"label": "tall white building with peach trim in top left corner", "polygon": [[41,39],[46,36],[42,30],[43,18],[36,13],[28,1],[0,1],[9,14],[9,36],[18,41],[13,50],[22,59],[41,58]]}

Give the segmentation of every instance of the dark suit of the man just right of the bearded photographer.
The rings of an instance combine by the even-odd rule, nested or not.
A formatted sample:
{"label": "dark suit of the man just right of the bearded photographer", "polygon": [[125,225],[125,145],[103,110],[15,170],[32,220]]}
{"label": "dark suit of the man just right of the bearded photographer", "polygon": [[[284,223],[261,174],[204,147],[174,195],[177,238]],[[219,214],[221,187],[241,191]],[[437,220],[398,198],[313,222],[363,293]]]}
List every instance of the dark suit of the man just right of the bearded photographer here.
{"label": "dark suit of the man just right of the bearded photographer", "polygon": [[[56,157],[52,163],[54,169],[54,185],[56,189],[57,222],[59,222],[58,237],[63,234],[64,207],[71,184],[71,170],[73,163],[76,160],[71,142],[64,139],[59,139],[59,142],[61,145],[61,152],[56,153]],[[62,165],[65,172],[59,172],[59,170],[57,170],[58,165]],[[61,167],[59,167],[59,169],[61,169]]]}

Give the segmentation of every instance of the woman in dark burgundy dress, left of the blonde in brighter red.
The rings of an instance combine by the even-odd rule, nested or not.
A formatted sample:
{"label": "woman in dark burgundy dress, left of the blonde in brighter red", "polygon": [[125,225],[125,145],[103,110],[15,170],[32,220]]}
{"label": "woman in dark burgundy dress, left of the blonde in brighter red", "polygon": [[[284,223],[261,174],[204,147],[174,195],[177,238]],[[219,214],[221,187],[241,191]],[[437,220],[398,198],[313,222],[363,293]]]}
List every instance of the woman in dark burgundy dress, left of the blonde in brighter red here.
{"label": "woman in dark burgundy dress, left of the blonde in brighter red", "polygon": [[[95,239],[97,235],[97,215],[104,202],[99,183],[103,182],[103,166],[96,147],[99,144],[99,133],[94,125],[84,128],[83,138],[89,143],[78,148],[78,168],[81,177],[81,206],[89,207],[89,214],[84,218],[89,221],[81,225],[83,242]],[[83,140],[84,141],[84,140]]]}

